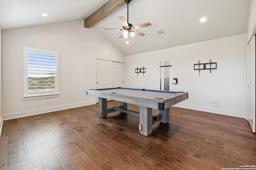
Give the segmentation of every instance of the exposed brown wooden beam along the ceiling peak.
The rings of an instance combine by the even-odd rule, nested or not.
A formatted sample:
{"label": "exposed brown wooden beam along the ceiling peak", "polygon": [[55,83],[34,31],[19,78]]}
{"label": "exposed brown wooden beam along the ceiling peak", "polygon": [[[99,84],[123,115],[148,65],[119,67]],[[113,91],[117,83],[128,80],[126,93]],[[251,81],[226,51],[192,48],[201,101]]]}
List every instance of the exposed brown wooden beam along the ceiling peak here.
{"label": "exposed brown wooden beam along the ceiling peak", "polygon": [[106,18],[109,14],[111,14],[124,4],[126,4],[124,0],[110,0],[104,6],[102,6],[100,9],[98,9],[91,16],[84,20],[84,27],[90,28],[92,25]]}

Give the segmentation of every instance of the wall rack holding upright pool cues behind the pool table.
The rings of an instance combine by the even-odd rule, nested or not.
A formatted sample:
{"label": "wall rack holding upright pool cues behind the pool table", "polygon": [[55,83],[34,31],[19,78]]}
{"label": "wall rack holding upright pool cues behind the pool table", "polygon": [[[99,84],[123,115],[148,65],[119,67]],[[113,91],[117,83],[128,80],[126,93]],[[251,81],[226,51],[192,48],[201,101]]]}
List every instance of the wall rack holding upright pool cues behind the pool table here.
{"label": "wall rack holding upright pool cues behind the pool table", "polygon": [[160,62],[160,90],[162,90],[162,69],[164,69],[164,90],[169,91],[170,87],[170,66],[169,61],[164,61],[164,65]]}

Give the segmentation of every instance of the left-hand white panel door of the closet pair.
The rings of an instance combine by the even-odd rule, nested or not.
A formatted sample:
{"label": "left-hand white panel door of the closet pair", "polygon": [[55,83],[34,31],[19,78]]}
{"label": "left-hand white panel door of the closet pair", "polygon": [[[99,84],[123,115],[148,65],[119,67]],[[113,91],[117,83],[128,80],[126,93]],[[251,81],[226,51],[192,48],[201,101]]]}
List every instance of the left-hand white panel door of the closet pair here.
{"label": "left-hand white panel door of the closet pair", "polygon": [[96,88],[112,88],[112,61],[97,59]]}

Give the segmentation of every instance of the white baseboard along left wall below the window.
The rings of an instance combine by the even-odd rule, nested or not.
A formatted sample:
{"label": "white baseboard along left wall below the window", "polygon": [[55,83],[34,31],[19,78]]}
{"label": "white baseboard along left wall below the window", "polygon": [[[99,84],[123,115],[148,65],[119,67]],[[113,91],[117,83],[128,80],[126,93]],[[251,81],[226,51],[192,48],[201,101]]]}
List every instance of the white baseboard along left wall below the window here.
{"label": "white baseboard along left wall below the window", "polygon": [[70,108],[74,108],[74,107],[87,106],[87,105],[91,105],[91,104],[95,104],[95,101],[82,102],[82,103],[70,104],[70,105],[64,105],[64,106],[57,106],[57,107],[49,107],[49,108],[38,109],[38,110],[23,111],[23,112],[18,112],[18,113],[5,114],[5,115],[2,115],[2,120],[15,119],[15,118],[31,116],[31,115],[38,115],[38,114],[41,114],[41,113],[48,113],[48,112],[52,112],[52,111],[70,109]]}

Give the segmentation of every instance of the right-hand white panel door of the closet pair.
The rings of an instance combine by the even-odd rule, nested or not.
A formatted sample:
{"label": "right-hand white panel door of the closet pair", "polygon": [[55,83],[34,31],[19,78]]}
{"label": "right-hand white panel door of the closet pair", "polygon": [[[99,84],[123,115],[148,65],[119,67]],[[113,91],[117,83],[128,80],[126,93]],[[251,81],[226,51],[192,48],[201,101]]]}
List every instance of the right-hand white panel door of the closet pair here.
{"label": "right-hand white panel door of the closet pair", "polygon": [[112,62],[112,87],[124,87],[124,63]]}

